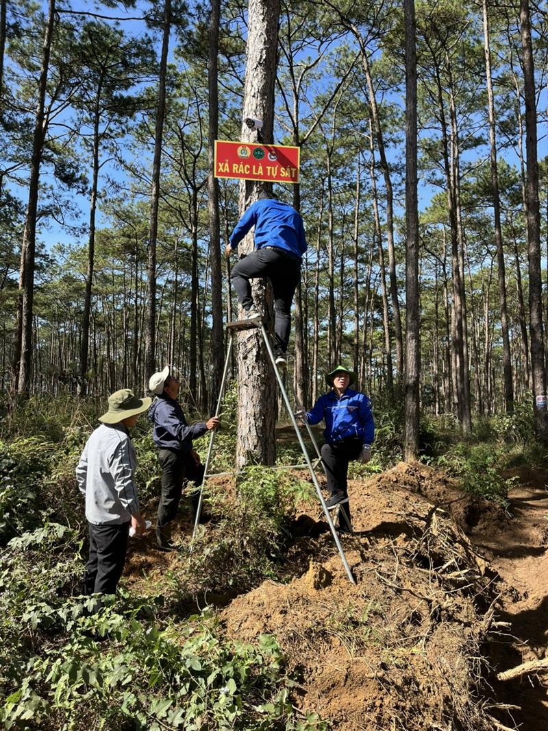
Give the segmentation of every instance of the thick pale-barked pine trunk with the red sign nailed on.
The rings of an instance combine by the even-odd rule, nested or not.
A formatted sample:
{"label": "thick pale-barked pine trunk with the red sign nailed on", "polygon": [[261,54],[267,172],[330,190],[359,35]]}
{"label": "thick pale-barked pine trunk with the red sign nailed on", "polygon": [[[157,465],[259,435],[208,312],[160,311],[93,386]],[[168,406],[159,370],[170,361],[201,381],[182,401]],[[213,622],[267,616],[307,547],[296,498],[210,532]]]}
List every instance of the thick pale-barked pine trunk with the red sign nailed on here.
{"label": "thick pale-barked pine trunk with the red sign nailed on", "polygon": [[[274,128],[274,83],[278,48],[279,0],[249,0],[246,80],[244,83],[243,118],[262,119],[262,139],[271,143]],[[241,139],[251,142],[256,132],[242,125]],[[240,215],[261,189],[252,181],[240,183]],[[248,254],[253,238],[247,235],[238,249]],[[269,287],[270,290],[270,287]],[[256,279],[253,296],[257,306],[267,311],[270,328],[273,323],[272,292],[266,292],[265,281]],[[275,461],[275,377],[262,337],[258,330],[244,331],[238,336],[238,427],[236,466],[250,460],[262,464]]]}

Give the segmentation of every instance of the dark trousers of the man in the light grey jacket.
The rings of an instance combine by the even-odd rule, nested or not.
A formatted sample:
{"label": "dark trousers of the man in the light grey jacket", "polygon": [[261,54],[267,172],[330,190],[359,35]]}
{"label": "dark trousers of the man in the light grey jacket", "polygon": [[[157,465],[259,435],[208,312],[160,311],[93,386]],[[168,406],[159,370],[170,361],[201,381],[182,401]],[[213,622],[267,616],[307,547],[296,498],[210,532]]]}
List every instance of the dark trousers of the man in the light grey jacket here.
{"label": "dark trousers of the man in the light grey jacket", "polygon": [[126,563],[129,521],[115,526],[89,523],[89,558],[85,564],[84,594],[115,594]]}

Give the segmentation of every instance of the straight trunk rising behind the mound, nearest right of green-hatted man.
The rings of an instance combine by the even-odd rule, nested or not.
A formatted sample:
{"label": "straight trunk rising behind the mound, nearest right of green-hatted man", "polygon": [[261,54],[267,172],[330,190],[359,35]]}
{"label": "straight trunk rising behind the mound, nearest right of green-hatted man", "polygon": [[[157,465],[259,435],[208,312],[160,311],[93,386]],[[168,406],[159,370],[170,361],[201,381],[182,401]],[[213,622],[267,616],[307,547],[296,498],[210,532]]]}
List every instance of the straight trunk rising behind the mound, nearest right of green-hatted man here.
{"label": "straight trunk rising behind the mound, nearest right of green-hatted man", "polygon": [[419,453],[420,314],[419,208],[416,162],[416,29],[414,0],[405,0],[406,18],[406,373],[404,458]]}

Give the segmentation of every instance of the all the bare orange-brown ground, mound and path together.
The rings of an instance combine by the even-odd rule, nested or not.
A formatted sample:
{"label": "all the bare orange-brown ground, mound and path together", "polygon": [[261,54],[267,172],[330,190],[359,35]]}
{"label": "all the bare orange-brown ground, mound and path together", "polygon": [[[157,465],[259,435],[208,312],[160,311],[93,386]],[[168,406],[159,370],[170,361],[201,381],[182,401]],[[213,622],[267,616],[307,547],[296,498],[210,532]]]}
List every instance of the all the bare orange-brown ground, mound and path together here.
{"label": "all the bare orange-brown ground, mound and path together", "polygon": [[[517,478],[506,511],[418,463],[351,481],[354,535],[341,542],[357,586],[319,508],[303,505],[281,581],[196,605],[216,605],[233,639],[275,635],[297,673],[292,702],[330,728],[548,728],[548,674],[495,677],[547,653],[548,470],[504,477]],[[180,538],[190,530],[180,523]],[[188,561],[151,543],[129,558],[139,591]]]}

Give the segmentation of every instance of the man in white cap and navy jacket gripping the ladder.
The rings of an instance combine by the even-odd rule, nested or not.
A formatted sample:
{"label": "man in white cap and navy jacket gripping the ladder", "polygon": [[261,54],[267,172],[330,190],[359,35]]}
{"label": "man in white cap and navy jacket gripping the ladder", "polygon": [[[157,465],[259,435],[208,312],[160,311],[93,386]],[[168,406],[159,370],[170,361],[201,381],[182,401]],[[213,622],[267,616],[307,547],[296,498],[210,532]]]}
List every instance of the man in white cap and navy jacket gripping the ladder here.
{"label": "man in white cap and navy jacket gripping the ladder", "polygon": [[184,480],[201,485],[204,466],[194,451],[192,439],[197,439],[221,423],[218,417],[188,425],[178,395],[180,381],[170,373],[170,367],[153,374],[148,383],[156,394],[148,417],[153,423],[152,437],[158,447],[161,465],[161,494],[158,505],[156,542],[161,550],[172,550],[171,521],[177,515]]}

